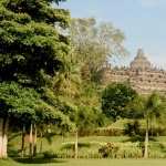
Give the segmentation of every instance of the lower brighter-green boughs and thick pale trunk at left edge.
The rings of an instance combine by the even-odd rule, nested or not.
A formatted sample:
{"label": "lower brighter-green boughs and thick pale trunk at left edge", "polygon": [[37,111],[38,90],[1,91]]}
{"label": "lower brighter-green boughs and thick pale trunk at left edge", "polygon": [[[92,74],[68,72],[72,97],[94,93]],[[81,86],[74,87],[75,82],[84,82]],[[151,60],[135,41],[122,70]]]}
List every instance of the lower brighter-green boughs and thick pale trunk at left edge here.
{"label": "lower brighter-green boughs and thick pale trunk at left edge", "polygon": [[7,157],[8,127],[10,121],[35,118],[35,107],[40,95],[32,89],[25,89],[19,84],[0,83],[0,158]]}

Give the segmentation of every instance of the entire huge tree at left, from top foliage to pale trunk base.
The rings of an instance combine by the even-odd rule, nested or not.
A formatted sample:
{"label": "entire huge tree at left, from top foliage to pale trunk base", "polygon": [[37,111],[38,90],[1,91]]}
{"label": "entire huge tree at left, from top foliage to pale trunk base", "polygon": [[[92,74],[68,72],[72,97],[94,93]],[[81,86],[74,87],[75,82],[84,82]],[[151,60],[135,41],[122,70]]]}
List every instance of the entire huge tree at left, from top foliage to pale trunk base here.
{"label": "entire huge tree at left, from top foliage to pale trunk base", "polygon": [[[37,89],[41,92],[56,71],[64,70],[70,52],[69,37],[64,33],[70,13],[53,8],[52,3],[60,1],[0,0],[0,158],[7,157],[10,117],[30,113],[31,121],[35,120],[34,103],[41,100]],[[51,117],[56,117],[51,113]]]}

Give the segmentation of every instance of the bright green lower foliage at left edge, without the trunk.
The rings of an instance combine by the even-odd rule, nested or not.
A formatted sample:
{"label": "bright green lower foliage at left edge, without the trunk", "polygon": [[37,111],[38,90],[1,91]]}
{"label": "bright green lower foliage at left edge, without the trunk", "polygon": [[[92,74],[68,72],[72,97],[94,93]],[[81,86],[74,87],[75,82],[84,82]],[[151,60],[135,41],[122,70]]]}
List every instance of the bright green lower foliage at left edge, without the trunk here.
{"label": "bright green lower foliage at left edge, without the trunk", "polygon": [[35,107],[39,103],[40,94],[33,89],[22,87],[21,85],[11,83],[0,83],[0,116],[20,116],[22,114],[35,116]]}

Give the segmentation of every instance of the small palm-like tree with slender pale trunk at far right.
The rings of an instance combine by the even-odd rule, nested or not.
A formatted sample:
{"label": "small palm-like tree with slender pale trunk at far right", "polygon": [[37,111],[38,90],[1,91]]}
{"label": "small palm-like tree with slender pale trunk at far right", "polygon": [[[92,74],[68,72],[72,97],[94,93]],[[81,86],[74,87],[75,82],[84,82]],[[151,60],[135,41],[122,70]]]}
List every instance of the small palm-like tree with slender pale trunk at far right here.
{"label": "small palm-like tree with slender pale trunk at far right", "polygon": [[137,96],[127,106],[127,118],[145,120],[145,142],[144,142],[144,157],[148,158],[148,141],[149,141],[149,124],[152,117],[158,120],[159,123],[165,122],[166,105],[165,101],[157,93],[152,93],[147,96]]}

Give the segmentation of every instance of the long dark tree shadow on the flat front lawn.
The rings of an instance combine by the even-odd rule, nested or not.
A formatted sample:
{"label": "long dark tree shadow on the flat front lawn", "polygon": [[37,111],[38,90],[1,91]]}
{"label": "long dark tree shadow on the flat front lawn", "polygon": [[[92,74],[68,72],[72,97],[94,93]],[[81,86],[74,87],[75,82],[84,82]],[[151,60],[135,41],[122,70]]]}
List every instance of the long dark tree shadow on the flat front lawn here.
{"label": "long dark tree shadow on the flat front lawn", "polygon": [[46,159],[46,158],[12,158],[13,160],[21,164],[51,164],[51,163],[66,163],[64,159]]}

